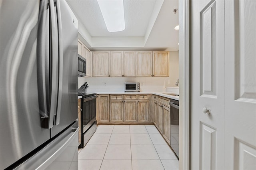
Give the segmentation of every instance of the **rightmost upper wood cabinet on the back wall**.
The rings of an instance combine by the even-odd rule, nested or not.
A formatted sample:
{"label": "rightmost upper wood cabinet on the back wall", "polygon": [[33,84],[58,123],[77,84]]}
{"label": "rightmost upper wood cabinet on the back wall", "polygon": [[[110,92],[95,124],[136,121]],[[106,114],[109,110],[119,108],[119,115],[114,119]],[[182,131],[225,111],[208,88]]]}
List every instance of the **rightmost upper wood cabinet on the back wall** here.
{"label": "rightmost upper wood cabinet on the back wall", "polygon": [[169,52],[153,51],[153,76],[169,76]]}

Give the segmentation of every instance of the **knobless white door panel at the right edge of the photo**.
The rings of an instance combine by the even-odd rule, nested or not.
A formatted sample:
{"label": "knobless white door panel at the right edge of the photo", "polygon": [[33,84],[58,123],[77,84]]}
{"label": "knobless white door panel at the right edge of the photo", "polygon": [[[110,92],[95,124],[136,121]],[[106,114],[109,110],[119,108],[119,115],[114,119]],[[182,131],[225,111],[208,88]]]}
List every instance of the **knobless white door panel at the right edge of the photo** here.
{"label": "knobless white door panel at the right edge of the photo", "polygon": [[256,170],[256,0],[225,1],[225,169]]}

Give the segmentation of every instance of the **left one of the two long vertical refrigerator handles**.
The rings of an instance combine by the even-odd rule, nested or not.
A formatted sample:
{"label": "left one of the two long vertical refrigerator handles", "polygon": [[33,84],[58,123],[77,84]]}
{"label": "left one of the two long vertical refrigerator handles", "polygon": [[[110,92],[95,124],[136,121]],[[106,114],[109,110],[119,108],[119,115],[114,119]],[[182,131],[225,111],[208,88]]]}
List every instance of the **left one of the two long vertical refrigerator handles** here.
{"label": "left one of the two long vertical refrigerator handles", "polygon": [[[42,128],[52,128],[57,100],[56,24],[53,0],[40,1],[37,39],[37,77]],[[58,37],[57,37],[58,38]],[[55,45],[55,46],[54,46]],[[57,44],[58,45],[58,44]],[[55,57],[56,58],[56,57]],[[53,86],[55,85],[55,86]]]}

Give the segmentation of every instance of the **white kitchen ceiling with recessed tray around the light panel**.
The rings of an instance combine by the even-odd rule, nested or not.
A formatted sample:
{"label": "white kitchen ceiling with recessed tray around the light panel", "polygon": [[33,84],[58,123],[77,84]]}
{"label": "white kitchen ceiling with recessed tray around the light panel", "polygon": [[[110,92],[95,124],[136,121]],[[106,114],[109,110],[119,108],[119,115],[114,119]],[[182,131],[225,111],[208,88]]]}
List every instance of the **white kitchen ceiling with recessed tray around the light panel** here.
{"label": "white kitchen ceiling with recessed tray around the light panel", "polygon": [[[96,0],[67,0],[78,18],[79,38],[92,51],[178,51],[178,0],[124,0],[126,28],[108,32]],[[81,37],[82,36],[82,37]]]}

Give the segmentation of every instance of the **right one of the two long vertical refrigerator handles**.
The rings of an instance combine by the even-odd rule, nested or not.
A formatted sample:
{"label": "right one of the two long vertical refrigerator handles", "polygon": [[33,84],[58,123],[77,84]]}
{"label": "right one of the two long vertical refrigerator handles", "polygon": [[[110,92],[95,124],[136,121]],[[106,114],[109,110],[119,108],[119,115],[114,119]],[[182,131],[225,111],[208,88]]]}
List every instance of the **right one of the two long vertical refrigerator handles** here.
{"label": "right one of the two long vertical refrigerator handles", "polygon": [[61,10],[59,0],[54,0],[56,5],[56,14],[58,20],[58,48],[59,48],[59,87],[58,87],[58,106],[56,119],[54,120],[54,125],[60,124],[60,111],[61,111],[61,100],[62,100],[62,84],[63,84],[63,47],[62,47],[62,21],[61,21]]}

